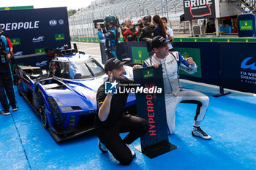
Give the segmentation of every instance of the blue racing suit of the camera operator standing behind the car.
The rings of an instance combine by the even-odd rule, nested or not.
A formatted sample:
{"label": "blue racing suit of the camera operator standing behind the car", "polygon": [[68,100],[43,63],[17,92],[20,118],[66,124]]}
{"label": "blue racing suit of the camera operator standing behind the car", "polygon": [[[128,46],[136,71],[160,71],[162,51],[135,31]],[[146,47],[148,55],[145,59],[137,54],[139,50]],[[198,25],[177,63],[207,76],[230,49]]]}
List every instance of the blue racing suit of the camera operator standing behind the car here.
{"label": "blue racing suit of the camera operator standing behind the car", "polygon": [[116,55],[116,30],[114,28],[110,28],[106,31],[105,34],[102,33],[101,30],[98,31],[99,39],[106,39],[106,53],[108,58],[117,58]]}

